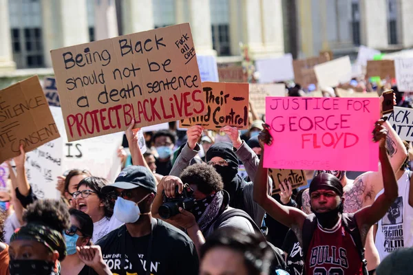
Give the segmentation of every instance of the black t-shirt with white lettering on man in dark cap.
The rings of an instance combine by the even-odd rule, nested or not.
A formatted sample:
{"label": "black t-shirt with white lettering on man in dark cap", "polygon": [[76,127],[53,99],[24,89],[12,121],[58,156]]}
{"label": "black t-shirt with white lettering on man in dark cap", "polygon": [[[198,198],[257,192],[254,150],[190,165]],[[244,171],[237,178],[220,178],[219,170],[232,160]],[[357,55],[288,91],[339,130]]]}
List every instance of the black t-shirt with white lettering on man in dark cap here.
{"label": "black t-shirt with white lettering on man in dark cap", "polygon": [[[128,272],[145,275],[150,234],[134,238],[128,232],[126,235],[124,233],[125,225],[122,225],[96,243],[102,249],[103,260],[113,274]],[[125,236],[126,239],[123,239]],[[125,273],[121,272],[123,245],[126,254]],[[184,232],[164,221],[158,220],[153,230],[150,258],[150,273],[153,275],[198,274],[199,262],[195,245]]]}

